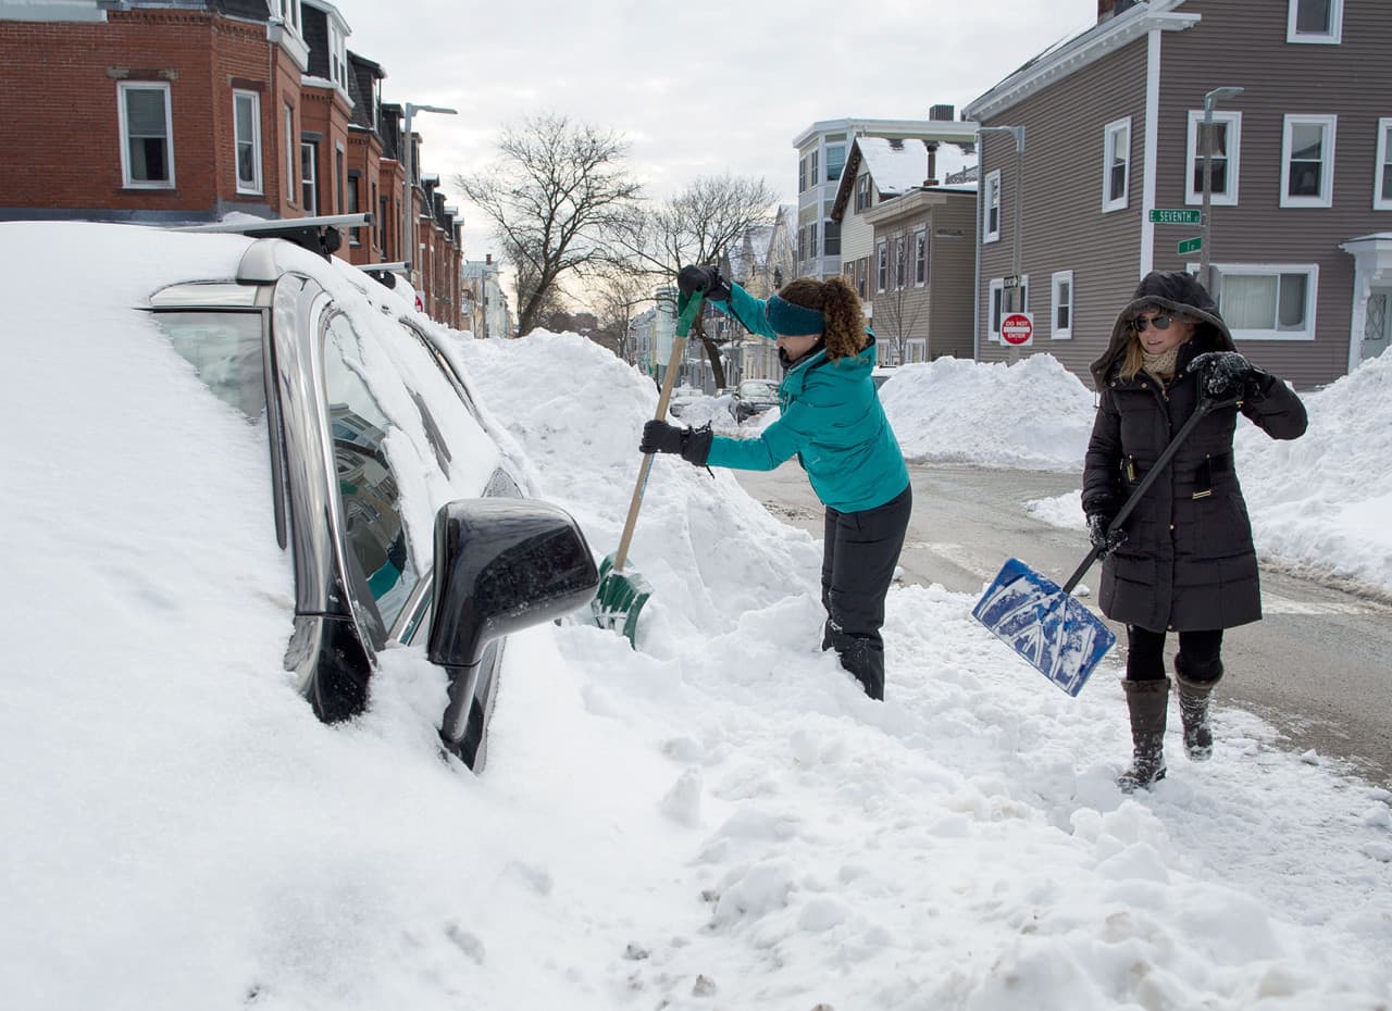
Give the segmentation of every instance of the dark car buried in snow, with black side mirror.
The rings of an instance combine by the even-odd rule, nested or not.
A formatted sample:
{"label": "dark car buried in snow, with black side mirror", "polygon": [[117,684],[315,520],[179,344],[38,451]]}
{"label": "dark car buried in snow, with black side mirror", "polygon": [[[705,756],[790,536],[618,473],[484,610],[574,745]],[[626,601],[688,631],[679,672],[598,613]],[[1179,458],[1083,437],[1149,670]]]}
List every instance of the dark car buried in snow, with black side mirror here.
{"label": "dark car buried in snow, with black side mirror", "polygon": [[[217,588],[238,652],[283,656],[326,722],[365,711],[384,651],[420,651],[448,674],[443,745],[480,769],[505,637],[583,606],[599,577],[574,519],[523,495],[452,331],[284,238],[17,223],[0,241],[25,250],[3,343],[26,452],[6,484],[32,512],[4,526],[74,590],[31,605],[35,633],[81,615],[102,659],[138,656],[127,638],[193,637],[173,604]],[[46,296],[49,277],[77,291]],[[100,473],[72,462],[88,441]],[[88,551],[63,551],[93,524]],[[253,620],[267,601],[278,619]],[[90,626],[103,608],[136,620]],[[185,676],[227,673],[220,647],[189,649],[207,652]]]}

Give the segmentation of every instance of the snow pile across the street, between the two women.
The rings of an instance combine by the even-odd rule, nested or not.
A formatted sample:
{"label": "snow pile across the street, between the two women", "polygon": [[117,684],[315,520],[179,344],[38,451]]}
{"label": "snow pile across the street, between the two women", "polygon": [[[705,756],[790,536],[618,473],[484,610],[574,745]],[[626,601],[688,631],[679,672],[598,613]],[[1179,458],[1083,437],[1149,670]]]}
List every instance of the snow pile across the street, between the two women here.
{"label": "snow pile across the street, between the two women", "polygon": [[915,463],[1070,470],[1093,431],[1091,391],[1051,355],[901,366],[880,401]]}

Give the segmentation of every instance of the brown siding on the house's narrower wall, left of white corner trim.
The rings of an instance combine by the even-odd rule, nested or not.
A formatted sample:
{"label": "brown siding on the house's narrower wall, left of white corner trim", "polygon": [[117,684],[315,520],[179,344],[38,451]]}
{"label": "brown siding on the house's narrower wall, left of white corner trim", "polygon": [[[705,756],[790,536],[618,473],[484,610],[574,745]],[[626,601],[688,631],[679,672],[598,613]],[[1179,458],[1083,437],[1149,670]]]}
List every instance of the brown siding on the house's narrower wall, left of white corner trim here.
{"label": "brown siding on the house's narrower wall, left of white corner trim", "polygon": [[[1140,277],[1140,221],[1144,186],[1146,40],[1094,63],[1034,95],[987,125],[1027,124],[1020,273],[1029,277],[1034,343],[1023,353],[1048,353],[1087,375],[1102,352],[1116,310]],[[1080,115],[1079,110],[1086,110]],[[1126,207],[1102,211],[1104,128],[1130,117],[1130,175]],[[1001,171],[1001,238],[981,246],[980,360],[1002,362],[1011,348],[990,339],[990,281],[1011,273],[1015,241],[1015,139],[983,138],[981,179]],[[977,221],[980,228],[980,221]],[[1050,278],[1073,271],[1073,338],[1051,341]]]}

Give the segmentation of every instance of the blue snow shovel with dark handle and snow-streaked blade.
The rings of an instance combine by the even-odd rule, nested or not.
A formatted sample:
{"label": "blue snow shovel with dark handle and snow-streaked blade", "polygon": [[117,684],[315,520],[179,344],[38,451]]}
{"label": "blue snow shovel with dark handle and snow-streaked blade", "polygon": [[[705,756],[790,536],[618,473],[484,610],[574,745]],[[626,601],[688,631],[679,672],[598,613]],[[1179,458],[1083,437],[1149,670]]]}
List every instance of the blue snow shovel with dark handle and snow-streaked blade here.
{"label": "blue snow shovel with dark handle and snow-streaked blade", "polygon": [[[1194,413],[1189,416],[1189,420],[1169,441],[1154,466],[1146,471],[1146,477],[1136,485],[1136,491],[1122,505],[1121,512],[1107,528],[1108,534],[1121,530],[1122,523],[1140,502],[1140,496],[1155,483],[1160,471],[1179,451],[1179,445],[1194,430],[1194,426],[1205,414],[1221,407],[1231,407],[1235,403],[1236,401],[1215,403],[1207,398],[1199,402]],[[1076,597],[1070,595],[1073,587],[1097,560],[1098,551],[1098,548],[1093,548],[1087,552],[1087,558],[1062,587],[1047,576],[1038,574],[1018,558],[1006,559],[995,581],[986,588],[981,599],[972,609],[972,616],[987,630],[1073,697],[1083,690],[1093,669],[1116,641],[1112,630]]]}

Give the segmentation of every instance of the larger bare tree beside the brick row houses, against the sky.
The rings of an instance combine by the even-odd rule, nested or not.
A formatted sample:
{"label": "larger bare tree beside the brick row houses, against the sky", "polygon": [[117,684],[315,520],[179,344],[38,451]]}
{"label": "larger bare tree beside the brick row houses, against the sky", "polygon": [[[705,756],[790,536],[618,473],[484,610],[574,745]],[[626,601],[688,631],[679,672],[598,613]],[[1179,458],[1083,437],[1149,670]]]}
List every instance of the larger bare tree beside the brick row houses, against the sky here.
{"label": "larger bare tree beside the brick row houses, against the sky", "polygon": [[516,268],[518,334],[558,307],[561,280],[610,259],[610,238],[640,195],[626,154],[621,136],[544,113],[503,132],[490,168],[457,177]]}

